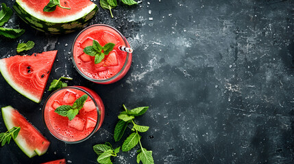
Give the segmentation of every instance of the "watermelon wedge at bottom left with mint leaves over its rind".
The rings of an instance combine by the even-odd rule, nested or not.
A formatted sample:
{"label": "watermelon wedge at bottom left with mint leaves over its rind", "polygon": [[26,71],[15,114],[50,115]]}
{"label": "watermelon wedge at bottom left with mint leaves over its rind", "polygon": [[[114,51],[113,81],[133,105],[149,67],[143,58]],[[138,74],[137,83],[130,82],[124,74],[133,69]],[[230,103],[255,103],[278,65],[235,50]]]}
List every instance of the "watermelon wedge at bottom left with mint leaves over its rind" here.
{"label": "watermelon wedge at bottom left with mint leaves over its rind", "polygon": [[47,152],[50,142],[19,111],[8,106],[3,107],[1,112],[6,128],[21,127],[21,131],[14,141],[29,158]]}

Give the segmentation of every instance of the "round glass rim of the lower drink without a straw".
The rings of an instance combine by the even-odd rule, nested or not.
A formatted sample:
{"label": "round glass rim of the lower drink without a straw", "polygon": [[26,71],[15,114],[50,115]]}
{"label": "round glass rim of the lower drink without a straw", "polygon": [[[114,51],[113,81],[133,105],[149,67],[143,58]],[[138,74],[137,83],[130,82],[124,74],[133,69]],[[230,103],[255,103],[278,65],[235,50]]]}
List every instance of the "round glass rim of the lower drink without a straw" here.
{"label": "round glass rim of the lower drink without a straw", "polygon": [[[76,89],[76,90],[80,90],[80,91],[86,93],[86,94],[87,94],[88,96],[90,96],[90,98],[93,100],[93,102],[95,103],[96,109],[97,109],[97,122],[96,122],[95,128],[93,129],[93,131],[92,131],[89,135],[87,135],[86,137],[84,137],[84,138],[82,138],[82,139],[79,139],[79,140],[77,140],[77,141],[65,141],[64,139],[61,139],[61,138],[59,138],[58,136],[53,135],[53,133],[49,130],[49,128],[48,128],[48,126],[47,126],[47,123],[46,123],[46,121],[45,121],[45,109],[46,109],[46,105],[47,105],[47,102],[48,102],[49,98],[51,98],[51,96],[53,96],[54,94],[56,94],[56,93],[59,92],[60,90],[66,90],[66,89]],[[98,127],[99,127],[99,124],[100,124],[100,121],[101,121],[101,112],[100,112],[100,109],[99,109],[98,103],[96,102],[95,98],[94,98],[93,96],[90,95],[89,92],[87,92],[87,91],[84,90],[83,88],[80,88],[79,86],[69,86],[69,87],[62,87],[62,88],[60,88],[60,89],[58,89],[58,90],[52,92],[52,93],[48,96],[48,98],[46,99],[45,104],[44,104],[44,106],[43,106],[43,108],[42,108],[42,120],[43,120],[43,122],[44,122],[44,124],[45,124],[45,127],[46,127],[47,130],[49,131],[49,133],[50,133],[51,135],[53,135],[53,137],[55,137],[56,139],[58,139],[58,140],[60,140],[60,141],[63,141],[63,142],[65,142],[65,143],[80,143],[80,142],[82,142],[82,141],[86,141],[88,138],[92,137],[92,135],[94,135],[94,134],[97,132]],[[49,125],[52,127],[52,125],[51,125],[50,122],[49,122]],[[53,129],[53,131],[54,131],[56,134],[58,134],[59,136],[61,136],[61,137],[63,137],[63,138],[66,138],[66,139],[69,139],[68,137],[64,137],[64,136],[60,135],[60,134],[59,134],[58,132],[56,132],[54,129]]]}

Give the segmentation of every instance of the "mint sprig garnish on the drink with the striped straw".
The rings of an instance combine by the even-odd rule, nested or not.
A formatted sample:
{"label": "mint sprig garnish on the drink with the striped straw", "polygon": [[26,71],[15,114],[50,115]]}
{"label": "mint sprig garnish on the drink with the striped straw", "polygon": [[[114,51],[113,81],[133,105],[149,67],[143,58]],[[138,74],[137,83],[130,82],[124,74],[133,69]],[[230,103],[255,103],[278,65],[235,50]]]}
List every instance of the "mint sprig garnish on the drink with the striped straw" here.
{"label": "mint sprig garnish on the drink with the striped straw", "polygon": [[111,42],[101,46],[99,42],[93,40],[93,46],[86,46],[84,53],[90,56],[95,56],[95,64],[99,64],[104,59],[105,55],[108,55],[110,51],[113,50],[114,46],[115,44]]}

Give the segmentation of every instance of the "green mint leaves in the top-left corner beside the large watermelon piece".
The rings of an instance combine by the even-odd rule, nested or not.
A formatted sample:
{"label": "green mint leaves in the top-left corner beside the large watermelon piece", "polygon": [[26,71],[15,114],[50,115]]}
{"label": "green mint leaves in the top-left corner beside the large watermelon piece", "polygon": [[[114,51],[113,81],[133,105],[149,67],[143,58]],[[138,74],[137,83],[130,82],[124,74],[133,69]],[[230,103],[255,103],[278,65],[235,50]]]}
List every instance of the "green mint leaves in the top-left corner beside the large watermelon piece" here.
{"label": "green mint leaves in the top-left corner beside the large watermelon piece", "polygon": [[[2,10],[0,11],[0,26],[4,25],[12,16],[12,10],[8,8],[5,3],[2,3]],[[7,29],[0,27],[0,35],[7,38],[19,38],[19,36],[25,33],[24,29]]]}

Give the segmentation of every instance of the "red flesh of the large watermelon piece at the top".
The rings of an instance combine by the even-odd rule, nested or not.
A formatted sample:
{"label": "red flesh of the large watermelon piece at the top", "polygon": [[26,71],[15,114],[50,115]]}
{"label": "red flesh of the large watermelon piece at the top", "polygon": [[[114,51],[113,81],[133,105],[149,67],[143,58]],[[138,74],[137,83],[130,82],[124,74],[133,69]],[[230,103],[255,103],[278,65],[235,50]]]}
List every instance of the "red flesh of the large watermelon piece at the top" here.
{"label": "red flesh of the large watermelon piece at the top", "polygon": [[19,0],[19,2],[29,6],[29,10],[34,10],[34,12],[40,15],[52,18],[62,18],[68,15],[77,14],[84,8],[93,4],[90,0],[60,0],[60,5],[62,7],[71,8],[71,10],[56,7],[56,10],[53,12],[43,12],[44,7],[49,3],[49,0]]}

